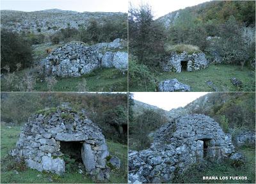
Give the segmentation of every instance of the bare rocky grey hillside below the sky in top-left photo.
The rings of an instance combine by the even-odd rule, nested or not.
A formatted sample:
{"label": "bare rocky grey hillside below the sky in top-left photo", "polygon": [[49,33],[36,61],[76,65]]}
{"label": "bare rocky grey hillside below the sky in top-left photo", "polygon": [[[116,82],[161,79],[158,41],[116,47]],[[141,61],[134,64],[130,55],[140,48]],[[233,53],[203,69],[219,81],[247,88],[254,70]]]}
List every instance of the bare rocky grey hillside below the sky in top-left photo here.
{"label": "bare rocky grey hillside below the sky in top-left photo", "polygon": [[13,11],[1,10],[1,28],[17,33],[55,33],[68,27],[86,27],[94,19],[102,23],[104,19],[127,19],[126,13],[77,12],[67,10]]}

